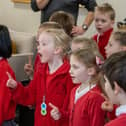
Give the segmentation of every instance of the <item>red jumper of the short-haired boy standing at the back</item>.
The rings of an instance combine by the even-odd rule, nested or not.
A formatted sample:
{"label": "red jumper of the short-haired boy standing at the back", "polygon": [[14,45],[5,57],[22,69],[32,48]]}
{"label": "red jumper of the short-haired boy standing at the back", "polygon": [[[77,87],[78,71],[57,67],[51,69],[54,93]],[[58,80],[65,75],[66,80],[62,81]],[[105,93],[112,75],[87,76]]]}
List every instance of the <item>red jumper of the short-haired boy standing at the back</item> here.
{"label": "red jumper of the short-haired boy standing at the back", "polygon": [[112,31],[113,31],[113,28],[107,30],[102,35],[96,34],[93,36],[93,40],[96,41],[99,51],[102,54],[102,56],[104,57],[104,59],[106,59],[105,47],[107,46],[107,44],[109,42],[109,38],[110,38]]}

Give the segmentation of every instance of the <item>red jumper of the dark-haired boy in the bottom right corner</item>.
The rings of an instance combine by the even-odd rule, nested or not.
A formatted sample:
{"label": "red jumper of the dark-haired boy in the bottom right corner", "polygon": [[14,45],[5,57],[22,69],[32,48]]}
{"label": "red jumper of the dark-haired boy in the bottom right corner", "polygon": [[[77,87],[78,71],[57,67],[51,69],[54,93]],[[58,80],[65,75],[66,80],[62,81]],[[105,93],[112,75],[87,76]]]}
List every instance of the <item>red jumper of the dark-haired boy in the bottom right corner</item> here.
{"label": "red jumper of the dark-haired boy in the bottom right corner", "polygon": [[126,114],[121,114],[116,119],[110,121],[105,126],[125,126],[126,125]]}

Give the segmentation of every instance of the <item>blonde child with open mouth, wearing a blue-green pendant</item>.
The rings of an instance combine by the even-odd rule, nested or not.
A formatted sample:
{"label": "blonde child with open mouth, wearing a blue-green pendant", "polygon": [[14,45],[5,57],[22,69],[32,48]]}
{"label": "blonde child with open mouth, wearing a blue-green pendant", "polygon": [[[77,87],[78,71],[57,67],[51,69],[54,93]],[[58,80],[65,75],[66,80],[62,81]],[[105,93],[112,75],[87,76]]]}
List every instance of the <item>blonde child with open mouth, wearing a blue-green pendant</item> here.
{"label": "blonde child with open mouth, wearing a blue-green pendant", "polygon": [[61,111],[67,109],[73,87],[70,64],[64,56],[70,49],[70,37],[62,29],[49,29],[39,35],[37,46],[40,61],[33,80],[23,87],[10,77],[13,99],[23,105],[35,105],[35,126],[63,126],[67,120],[54,121],[50,116],[51,102]]}

